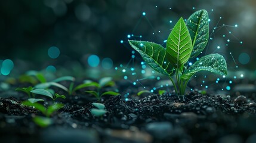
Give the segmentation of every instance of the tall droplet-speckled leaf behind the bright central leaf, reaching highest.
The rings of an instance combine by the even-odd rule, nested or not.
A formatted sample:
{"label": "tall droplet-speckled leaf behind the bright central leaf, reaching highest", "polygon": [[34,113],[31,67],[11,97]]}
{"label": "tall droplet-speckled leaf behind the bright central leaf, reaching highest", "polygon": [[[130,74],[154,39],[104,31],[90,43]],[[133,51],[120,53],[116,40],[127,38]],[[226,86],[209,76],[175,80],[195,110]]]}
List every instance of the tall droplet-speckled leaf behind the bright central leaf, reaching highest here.
{"label": "tall droplet-speckled leaf behind the bright central leaf, reaching highest", "polygon": [[186,21],[192,39],[193,50],[190,58],[198,56],[205,48],[209,39],[209,21],[206,10],[193,13]]}

